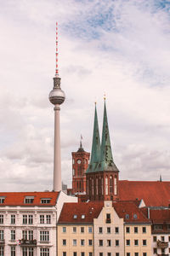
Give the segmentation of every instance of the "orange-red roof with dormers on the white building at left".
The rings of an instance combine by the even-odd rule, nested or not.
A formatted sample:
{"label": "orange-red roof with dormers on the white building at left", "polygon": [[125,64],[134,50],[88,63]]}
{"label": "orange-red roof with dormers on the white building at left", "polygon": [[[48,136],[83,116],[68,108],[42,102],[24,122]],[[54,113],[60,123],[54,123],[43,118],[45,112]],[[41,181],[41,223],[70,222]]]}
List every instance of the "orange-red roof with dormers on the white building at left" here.
{"label": "orange-red roof with dormers on the white building at left", "polygon": [[[55,206],[59,192],[0,192],[0,197],[4,196],[4,203],[0,204],[3,206]],[[26,196],[34,196],[33,203],[25,203]],[[41,204],[42,198],[50,198],[50,203]]]}

